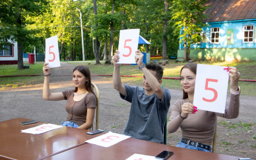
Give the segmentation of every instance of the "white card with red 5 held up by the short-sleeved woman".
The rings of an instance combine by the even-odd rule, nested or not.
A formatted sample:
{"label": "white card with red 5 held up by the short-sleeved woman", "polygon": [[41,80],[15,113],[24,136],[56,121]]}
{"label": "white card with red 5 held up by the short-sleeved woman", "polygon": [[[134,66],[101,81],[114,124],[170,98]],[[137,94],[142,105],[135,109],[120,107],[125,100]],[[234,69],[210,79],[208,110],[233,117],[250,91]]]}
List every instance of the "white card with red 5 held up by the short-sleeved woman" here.
{"label": "white card with red 5 held up by the short-sleeved woman", "polygon": [[58,35],[45,39],[45,63],[49,67],[60,67]]}

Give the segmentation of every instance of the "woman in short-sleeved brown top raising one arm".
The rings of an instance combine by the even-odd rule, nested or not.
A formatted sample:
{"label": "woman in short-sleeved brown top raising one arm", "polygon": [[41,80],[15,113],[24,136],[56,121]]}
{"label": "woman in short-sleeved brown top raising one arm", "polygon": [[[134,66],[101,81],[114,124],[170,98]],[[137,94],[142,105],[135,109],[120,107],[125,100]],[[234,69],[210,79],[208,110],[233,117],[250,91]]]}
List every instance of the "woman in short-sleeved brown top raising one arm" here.
{"label": "woman in short-sleeved brown top raising one arm", "polygon": [[77,66],[73,70],[74,90],[51,93],[49,88],[49,77],[51,75],[48,63],[44,64],[44,88],[43,98],[45,100],[67,100],[65,109],[68,113],[67,119],[61,123],[68,127],[79,129],[90,129],[93,124],[97,98],[93,93],[91,75],[88,67]]}

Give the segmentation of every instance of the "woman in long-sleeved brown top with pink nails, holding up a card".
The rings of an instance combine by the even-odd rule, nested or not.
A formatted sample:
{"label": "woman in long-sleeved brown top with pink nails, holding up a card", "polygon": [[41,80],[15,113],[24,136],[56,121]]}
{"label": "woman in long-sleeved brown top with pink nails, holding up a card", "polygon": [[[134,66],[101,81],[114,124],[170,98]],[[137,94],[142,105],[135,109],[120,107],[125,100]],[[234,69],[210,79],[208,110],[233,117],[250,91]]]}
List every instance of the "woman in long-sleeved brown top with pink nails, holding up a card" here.
{"label": "woman in long-sleeved brown top with pink nails, holding up a card", "polygon": [[216,116],[237,118],[239,114],[240,88],[238,80],[240,73],[235,67],[225,68],[230,76],[230,102],[225,113],[214,113],[196,109],[193,106],[196,63],[188,63],[180,70],[180,84],[183,89],[183,99],[177,100],[172,108],[172,114],[167,124],[167,131],[172,133],[181,129],[182,140],[176,147],[190,148],[211,152],[215,131]]}

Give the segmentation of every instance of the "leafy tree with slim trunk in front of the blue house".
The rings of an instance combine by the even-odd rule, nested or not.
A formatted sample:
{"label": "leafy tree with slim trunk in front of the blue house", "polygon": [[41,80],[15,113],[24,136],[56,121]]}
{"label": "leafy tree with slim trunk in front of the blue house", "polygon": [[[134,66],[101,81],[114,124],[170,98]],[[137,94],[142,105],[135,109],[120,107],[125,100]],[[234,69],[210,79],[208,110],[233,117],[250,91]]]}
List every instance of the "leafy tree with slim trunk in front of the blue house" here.
{"label": "leafy tree with slim trunk in front of the blue house", "polygon": [[174,0],[172,4],[172,19],[175,20],[175,33],[180,35],[180,43],[184,44],[184,61],[189,61],[190,44],[202,38],[195,33],[201,33],[206,24],[202,20],[207,17],[203,12],[206,0]]}

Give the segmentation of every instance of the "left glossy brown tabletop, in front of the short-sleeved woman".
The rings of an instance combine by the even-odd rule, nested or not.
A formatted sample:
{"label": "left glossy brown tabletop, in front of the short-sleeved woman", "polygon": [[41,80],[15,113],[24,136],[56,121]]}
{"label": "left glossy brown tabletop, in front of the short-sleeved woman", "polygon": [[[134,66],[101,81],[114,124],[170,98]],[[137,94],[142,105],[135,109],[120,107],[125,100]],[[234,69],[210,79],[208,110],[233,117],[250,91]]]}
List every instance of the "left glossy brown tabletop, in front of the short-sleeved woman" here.
{"label": "left glossy brown tabletop, in front of the short-sleeved woman", "polygon": [[[16,118],[0,122],[0,159],[42,159],[58,152],[77,147],[97,135],[86,134],[88,130],[63,126],[42,134],[29,134],[21,130],[36,127],[45,122],[20,125],[28,121]],[[102,134],[102,133],[101,133]]]}

